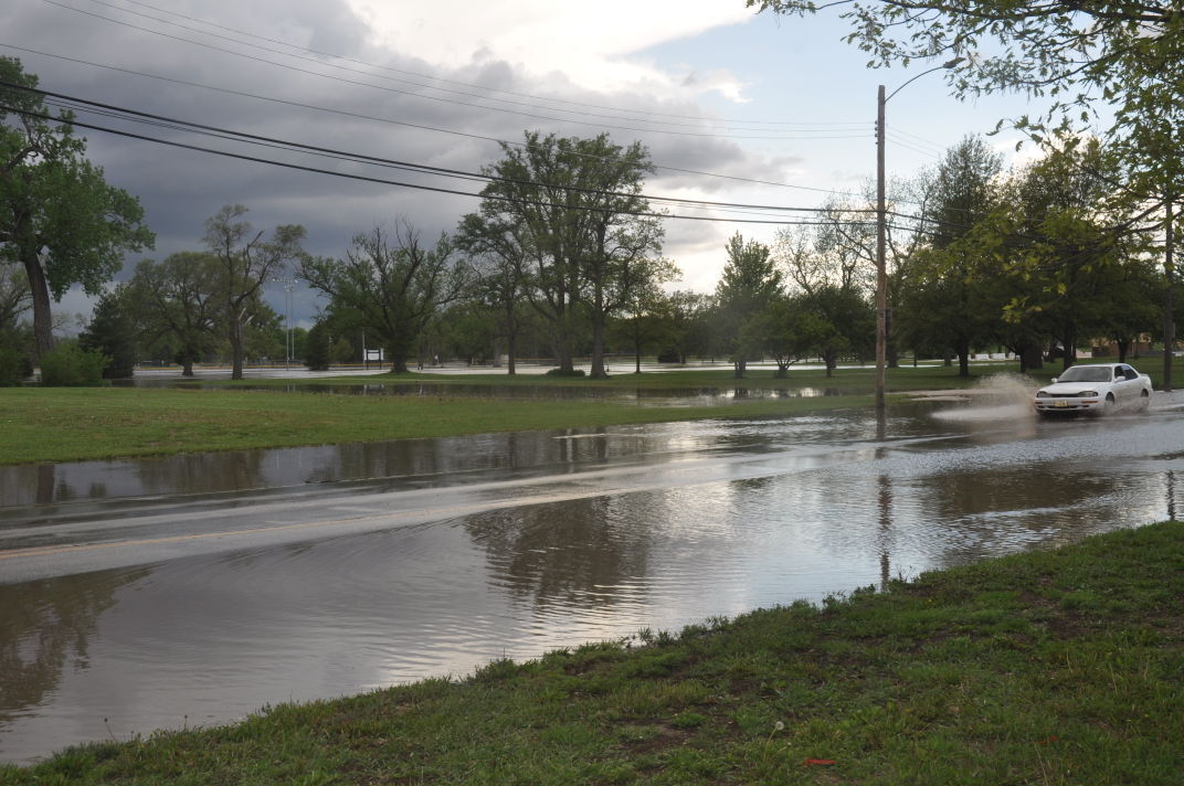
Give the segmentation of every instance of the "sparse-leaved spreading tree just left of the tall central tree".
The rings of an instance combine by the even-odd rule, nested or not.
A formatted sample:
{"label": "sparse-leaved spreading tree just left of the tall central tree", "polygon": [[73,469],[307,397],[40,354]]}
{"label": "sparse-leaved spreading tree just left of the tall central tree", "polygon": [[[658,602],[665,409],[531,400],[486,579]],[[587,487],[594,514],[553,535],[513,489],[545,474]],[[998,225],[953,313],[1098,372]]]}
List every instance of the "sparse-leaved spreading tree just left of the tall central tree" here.
{"label": "sparse-leaved spreading tree just left of the tall central tree", "polygon": [[359,324],[379,336],[394,373],[407,371],[424,328],[465,292],[469,279],[448,234],[425,249],[405,219],[393,233],[377,226],[355,236],[345,259],[305,258],[301,271],[332,298],[332,311],[354,311]]}

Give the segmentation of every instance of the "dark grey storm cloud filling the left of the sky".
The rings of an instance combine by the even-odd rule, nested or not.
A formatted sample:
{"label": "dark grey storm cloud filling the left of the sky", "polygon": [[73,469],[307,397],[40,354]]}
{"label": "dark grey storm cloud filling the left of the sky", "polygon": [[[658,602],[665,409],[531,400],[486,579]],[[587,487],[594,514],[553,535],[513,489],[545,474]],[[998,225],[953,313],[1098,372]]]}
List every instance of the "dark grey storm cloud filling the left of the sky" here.
{"label": "dark grey storm cloud filling the left of the sky", "polygon": [[[588,136],[601,130],[588,122],[636,125],[633,114],[628,110],[613,112],[620,116],[618,120],[605,120],[603,115],[607,111],[540,102],[529,98],[532,95],[562,97],[586,104],[648,108],[671,115],[702,114],[687,102],[661,102],[641,94],[593,94],[572,85],[562,75],[549,73],[543,84],[527,78],[520,66],[491,59],[488,52],[481,51],[475,51],[466,65],[445,72],[422,60],[372,46],[366,25],[343,2],[214,0],[169,6],[170,11],[194,19],[215,21],[225,27],[358,60],[336,60],[341,67],[332,67],[326,58],[309,52],[291,50],[278,43],[246,39],[144,6],[126,5],[121,11],[86,0],[60,1],[76,11],[54,5],[58,0],[9,0],[15,8],[7,14],[6,30],[0,36],[0,43],[6,45],[0,47],[0,53],[19,57],[26,71],[38,75],[46,90],[372,156],[475,172],[498,157],[498,146],[491,140],[516,142],[522,138],[523,129]],[[96,15],[86,15],[82,11]],[[172,19],[180,26],[148,17]],[[212,34],[201,34],[198,30]],[[290,54],[268,50],[282,50]],[[429,80],[413,73],[432,73],[508,92],[487,94],[503,99],[495,102],[462,95],[480,91],[461,84],[436,83],[452,92],[427,90],[420,85],[429,84]],[[224,91],[181,83],[210,85]],[[549,104],[549,108],[535,105],[540,103]],[[474,104],[496,104],[502,111]],[[558,111],[560,108],[588,114]],[[601,116],[597,117],[598,114]],[[94,118],[82,112],[79,120],[289,163],[359,172],[464,192],[481,188],[480,183],[470,181],[363,167],[176,130]],[[580,120],[587,122],[578,122]],[[457,134],[423,127],[449,129]],[[792,165],[790,160],[761,160],[734,140],[644,133],[629,128],[605,130],[622,144],[641,138],[656,163],[680,169],[726,170],[740,176],[767,178],[778,167]],[[143,204],[148,224],[157,233],[156,250],[152,253],[155,258],[200,247],[204,220],[225,204],[247,206],[251,211],[249,218],[258,228],[302,224],[308,231],[307,249],[313,253],[332,256],[341,255],[355,233],[377,224],[390,224],[398,217],[406,217],[425,238],[432,238],[440,231],[451,230],[463,213],[477,207],[475,199],[463,196],[220,159],[97,130],[83,134],[89,140],[91,159],[104,167],[108,180],[139,196]],[[646,189],[657,193],[662,188],[696,188],[723,194],[732,187],[727,181],[663,169],[652,178]],[[670,232],[669,237],[694,238],[693,241],[703,238],[702,241],[707,243],[710,234],[709,228],[696,226]],[[308,303],[297,308],[303,311],[300,316],[308,316]]]}

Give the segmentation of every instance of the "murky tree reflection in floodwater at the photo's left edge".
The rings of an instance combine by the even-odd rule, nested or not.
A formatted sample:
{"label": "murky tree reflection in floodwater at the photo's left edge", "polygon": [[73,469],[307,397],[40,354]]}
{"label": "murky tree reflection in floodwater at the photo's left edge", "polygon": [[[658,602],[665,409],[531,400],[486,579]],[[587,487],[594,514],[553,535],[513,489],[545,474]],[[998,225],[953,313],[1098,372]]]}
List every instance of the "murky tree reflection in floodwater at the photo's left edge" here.
{"label": "murky tree reflection in floodwater at the photo's left edge", "polygon": [[0,585],[0,727],[57,689],[70,664],[85,669],[88,644],[115,591],[150,568],[105,571]]}

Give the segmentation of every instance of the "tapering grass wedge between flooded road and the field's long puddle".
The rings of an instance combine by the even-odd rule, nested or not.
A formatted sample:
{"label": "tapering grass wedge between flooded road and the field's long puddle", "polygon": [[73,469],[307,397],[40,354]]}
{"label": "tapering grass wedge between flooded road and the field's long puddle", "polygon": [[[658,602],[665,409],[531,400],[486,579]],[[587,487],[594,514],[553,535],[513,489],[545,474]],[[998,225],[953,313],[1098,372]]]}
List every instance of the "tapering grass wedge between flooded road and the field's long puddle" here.
{"label": "tapering grass wedge between flooded road and the field's long puddle", "polygon": [[651,407],[591,399],[238,389],[0,388],[0,464],[246,450],[866,407],[869,397]]}

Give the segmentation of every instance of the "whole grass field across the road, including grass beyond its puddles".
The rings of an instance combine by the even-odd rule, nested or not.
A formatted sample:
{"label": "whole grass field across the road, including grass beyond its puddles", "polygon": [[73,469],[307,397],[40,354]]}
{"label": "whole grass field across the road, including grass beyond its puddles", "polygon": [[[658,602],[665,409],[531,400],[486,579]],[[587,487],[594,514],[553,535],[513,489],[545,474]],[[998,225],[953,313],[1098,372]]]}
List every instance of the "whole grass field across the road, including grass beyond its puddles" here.
{"label": "whole grass field across the road, including grass beyond its puddles", "polygon": [[[974,385],[976,369],[900,368],[890,392]],[[309,386],[418,384],[438,395],[349,395],[303,392]],[[562,388],[564,398],[462,395],[458,386]],[[450,437],[498,431],[593,427],[719,417],[780,417],[823,410],[867,407],[873,369],[791,371],[787,379],[751,372],[735,380],[727,369],[616,374],[607,380],[572,380],[507,374],[380,374],[375,376],[219,382],[212,388],[0,388],[0,464],[66,462],[186,451],[288,447],[346,442]],[[250,388],[250,389],[237,389]],[[781,389],[803,397],[721,400],[686,406],[597,399],[604,389],[687,391]],[[829,392],[829,395],[812,393]],[[836,394],[837,393],[837,394]]]}

